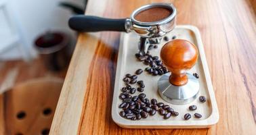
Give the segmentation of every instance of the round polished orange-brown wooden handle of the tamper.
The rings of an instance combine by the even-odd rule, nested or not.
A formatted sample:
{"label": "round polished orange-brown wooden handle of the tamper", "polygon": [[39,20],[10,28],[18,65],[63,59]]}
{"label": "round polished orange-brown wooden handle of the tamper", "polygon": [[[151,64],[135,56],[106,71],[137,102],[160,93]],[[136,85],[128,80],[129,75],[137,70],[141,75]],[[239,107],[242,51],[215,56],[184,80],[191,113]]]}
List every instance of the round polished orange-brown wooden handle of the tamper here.
{"label": "round polished orange-brown wooden handle of the tamper", "polygon": [[183,86],[188,82],[186,72],[196,63],[198,50],[189,41],[176,39],[163,46],[160,56],[171,72],[169,82],[175,86]]}

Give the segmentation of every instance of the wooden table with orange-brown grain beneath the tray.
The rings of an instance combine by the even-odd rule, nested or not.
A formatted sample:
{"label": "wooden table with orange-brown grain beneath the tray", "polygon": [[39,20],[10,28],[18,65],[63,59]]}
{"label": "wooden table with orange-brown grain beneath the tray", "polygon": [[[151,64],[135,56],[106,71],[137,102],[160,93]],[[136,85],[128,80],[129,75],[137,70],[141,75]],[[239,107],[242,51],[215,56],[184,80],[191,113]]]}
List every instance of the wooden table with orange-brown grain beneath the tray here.
{"label": "wooden table with orange-brown grain beneath the tray", "polygon": [[[87,15],[127,18],[149,0],[91,0]],[[160,1],[157,1],[160,2]],[[133,130],[111,119],[119,32],[79,34],[51,126],[51,134],[253,134],[256,133],[255,1],[179,0],[177,24],[197,26],[219,107],[209,129]],[[253,6],[254,5],[254,6]]]}

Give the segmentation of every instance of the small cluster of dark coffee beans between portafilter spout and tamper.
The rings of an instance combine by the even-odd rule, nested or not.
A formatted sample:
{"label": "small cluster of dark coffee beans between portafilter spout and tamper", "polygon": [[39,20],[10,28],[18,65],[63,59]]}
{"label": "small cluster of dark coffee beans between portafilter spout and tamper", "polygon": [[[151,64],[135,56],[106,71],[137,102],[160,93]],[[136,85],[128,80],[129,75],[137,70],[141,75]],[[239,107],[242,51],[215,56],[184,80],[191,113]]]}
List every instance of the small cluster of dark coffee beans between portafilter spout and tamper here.
{"label": "small cluster of dark coffee beans between portafilter spout and tamper", "polygon": [[169,72],[163,65],[161,59],[159,59],[158,56],[150,55],[149,51],[145,55],[142,52],[136,53],[135,57],[145,65],[149,65],[149,67],[145,68],[145,71],[148,72],[148,74],[152,74],[152,76],[161,76]]}

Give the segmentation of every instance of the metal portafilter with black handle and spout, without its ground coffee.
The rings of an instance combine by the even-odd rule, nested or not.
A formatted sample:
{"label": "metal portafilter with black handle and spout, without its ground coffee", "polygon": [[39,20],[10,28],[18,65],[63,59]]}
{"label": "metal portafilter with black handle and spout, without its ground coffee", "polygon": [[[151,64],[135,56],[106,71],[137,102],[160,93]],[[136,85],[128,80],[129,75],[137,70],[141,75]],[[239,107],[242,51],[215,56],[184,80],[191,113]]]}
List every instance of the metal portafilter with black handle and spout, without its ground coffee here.
{"label": "metal portafilter with black handle and spout, without its ground coffee", "polygon": [[[162,20],[154,22],[141,22],[136,19],[136,16],[142,11],[153,8],[168,9],[170,14]],[[70,28],[79,32],[98,32],[98,31],[120,31],[131,32],[134,31],[140,35],[141,39],[139,49],[141,52],[146,53],[148,49],[147,44],[158,44],[161,42],[162,36],[173,30],[175,27],[177,11],[170,3],[152,3],[144,5],[131,14],[130,18],[125,19],[109,19],[100,18],[97,16],[73,16],[68,21]],[[143,46],[143,47],[142,47]]]}

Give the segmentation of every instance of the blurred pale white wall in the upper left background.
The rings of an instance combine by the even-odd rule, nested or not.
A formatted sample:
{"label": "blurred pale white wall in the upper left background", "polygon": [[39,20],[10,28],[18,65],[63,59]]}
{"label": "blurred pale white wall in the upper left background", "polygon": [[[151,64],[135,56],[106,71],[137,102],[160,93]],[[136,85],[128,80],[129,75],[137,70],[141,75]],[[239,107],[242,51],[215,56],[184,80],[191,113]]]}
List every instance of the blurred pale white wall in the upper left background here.
{"label": "blurred pale white wall in the upper left background", "polygon": [[[33,50],[35,38],[47,30],[68,32],[72,34],[74,43],[75,34],[68,28],[68,18],[72,14],[68,9],[58,5],[60,1],[72,1],[83,7],[83,0],[7,0],[9,16],[12,16],[12,21],[21,38],[20,44],[27,51],[25,55],[28,59],[36,56]],[[0,55],[1,59],[19,58],[18,55],[22,53],[12,53],[17,52],[14,49],[19,49],[19,47]]]}

